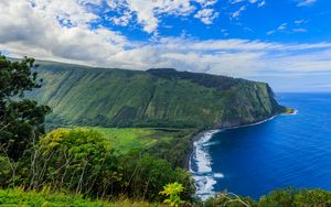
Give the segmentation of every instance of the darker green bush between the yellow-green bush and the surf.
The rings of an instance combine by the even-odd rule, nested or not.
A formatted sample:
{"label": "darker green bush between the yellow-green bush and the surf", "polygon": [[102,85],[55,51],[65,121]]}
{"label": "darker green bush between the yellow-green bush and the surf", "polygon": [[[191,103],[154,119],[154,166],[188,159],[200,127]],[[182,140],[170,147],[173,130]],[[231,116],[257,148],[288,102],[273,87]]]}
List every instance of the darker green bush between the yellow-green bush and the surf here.
{"label": "darker green bush between the yellow-green bush and the surf", "polygon": [[173,170],[166,160],[130,154],[121,163],[124,164],[124,183],[131,197],[160,201],[162,196],[159,192],[164,185],[174,182],[182,184],[186,189],[181,195],[185,200],[191,199],[194,193],[191,175],[182,168]]}

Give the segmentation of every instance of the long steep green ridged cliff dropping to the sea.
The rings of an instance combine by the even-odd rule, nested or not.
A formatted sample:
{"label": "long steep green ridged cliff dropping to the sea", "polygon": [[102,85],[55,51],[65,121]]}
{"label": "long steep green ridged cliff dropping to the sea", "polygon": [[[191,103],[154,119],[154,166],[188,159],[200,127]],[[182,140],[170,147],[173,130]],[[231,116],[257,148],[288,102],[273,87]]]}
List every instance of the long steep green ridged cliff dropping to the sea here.
{"label": "long steep green ridged cliff dropping to the sea", "polygon": [[264,83],[150,69],[90,68],[41,62],[31,94],[62,126],[212,128],[250,123],[284,110]]}

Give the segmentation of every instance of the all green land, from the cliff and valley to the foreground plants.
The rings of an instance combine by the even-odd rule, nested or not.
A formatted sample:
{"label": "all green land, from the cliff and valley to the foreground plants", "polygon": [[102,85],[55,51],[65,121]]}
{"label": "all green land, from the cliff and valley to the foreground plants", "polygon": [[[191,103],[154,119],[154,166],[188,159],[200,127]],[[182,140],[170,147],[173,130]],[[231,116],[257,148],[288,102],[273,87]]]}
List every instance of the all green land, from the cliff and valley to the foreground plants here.
{"label": "all green land, from the cliff and valley to the foreground plants", "polygon": [[[275,190],[259,200],[227,192],[206,201],[194,197],[181,167],[193,134],[282,112],[266,84],[172,69],[63,67],[0,56],[0,205],[331,205],[321,189]],[[226,102],[229,110],[223,110]]]}

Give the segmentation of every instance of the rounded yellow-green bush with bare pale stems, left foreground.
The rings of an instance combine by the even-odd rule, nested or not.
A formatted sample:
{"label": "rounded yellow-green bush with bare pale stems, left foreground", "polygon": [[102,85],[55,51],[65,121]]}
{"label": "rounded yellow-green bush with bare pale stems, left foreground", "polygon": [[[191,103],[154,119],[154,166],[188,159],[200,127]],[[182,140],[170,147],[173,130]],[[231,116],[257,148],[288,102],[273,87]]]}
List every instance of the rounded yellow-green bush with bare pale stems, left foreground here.
{"label": "rounded yellow-green bush with bare pale stems, left foreground", "polygon": [[57,129],[41,139],[29,176],[30,188],[104,195],[120,179],[111,144],[102,134],[84,129]]}

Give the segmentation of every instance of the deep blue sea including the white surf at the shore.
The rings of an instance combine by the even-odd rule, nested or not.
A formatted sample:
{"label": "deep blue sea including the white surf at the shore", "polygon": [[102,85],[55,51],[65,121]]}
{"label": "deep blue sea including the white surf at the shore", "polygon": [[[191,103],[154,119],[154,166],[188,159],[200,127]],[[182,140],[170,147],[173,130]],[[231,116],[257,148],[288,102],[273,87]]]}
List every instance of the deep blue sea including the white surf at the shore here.
{"label": "deep blue sea including the white surf at the shore", "polygon": [[331,94],[278,94],[296,115],[206,132],[191,173],[203,199],[226,189],[255,199],[275,188],[331,190]]}

